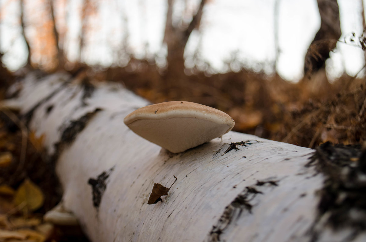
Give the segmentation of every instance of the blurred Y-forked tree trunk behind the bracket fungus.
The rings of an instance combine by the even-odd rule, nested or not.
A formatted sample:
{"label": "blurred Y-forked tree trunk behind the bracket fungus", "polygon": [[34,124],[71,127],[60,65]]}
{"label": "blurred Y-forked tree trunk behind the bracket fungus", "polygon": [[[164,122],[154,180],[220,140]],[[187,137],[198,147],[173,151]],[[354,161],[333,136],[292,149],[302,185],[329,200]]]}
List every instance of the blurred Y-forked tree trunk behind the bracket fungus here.
{"label": "blurred Y-forked tree trunk behind the bracket fungus", "polygon": [[165,75],[165,84],[171,84],[171,77],[184,74],[184,49],[192,31],[199,27],[202,18],[203,6],[206,0],[201,0],[198,10],[186,27],[173,25],[173,3],[168,0],[167,20],[165,22],[165,32],[163,42],[167,45],[168,68]]}

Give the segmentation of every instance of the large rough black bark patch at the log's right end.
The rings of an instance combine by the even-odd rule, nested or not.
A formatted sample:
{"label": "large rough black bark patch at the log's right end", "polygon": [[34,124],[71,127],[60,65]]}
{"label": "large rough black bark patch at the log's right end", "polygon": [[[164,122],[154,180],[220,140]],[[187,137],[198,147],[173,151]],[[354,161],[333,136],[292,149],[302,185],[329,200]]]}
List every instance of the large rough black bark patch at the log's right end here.
{"label": "large rough black bark patch at the log's right end", "polygon": [[[351,230],[347,241],[364,232],[366,147],[326,142],[316,149],[306,166],[315,166],[318,173],[325,175],[324,186],[317,191],[320,201],[317,217],[309,231],[311,241],[318,240],[325,226]],[[321,222],[324,220],[325,223]]]}

